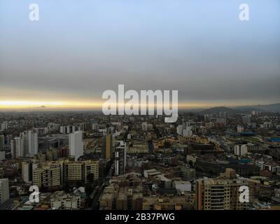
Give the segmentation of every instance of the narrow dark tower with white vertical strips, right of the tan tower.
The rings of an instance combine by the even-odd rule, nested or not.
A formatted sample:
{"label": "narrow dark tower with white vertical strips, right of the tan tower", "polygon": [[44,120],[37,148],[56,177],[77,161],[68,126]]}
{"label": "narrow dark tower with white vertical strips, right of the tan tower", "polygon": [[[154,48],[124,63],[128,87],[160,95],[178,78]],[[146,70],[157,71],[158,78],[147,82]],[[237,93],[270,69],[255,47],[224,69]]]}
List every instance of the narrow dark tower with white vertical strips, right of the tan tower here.
{"label": "narrow dark tower with white vertical strips, right of the tan tower", "polygon": [[115,175],[125,174],[127,146],[124,141],[117,141],[115,148]]}

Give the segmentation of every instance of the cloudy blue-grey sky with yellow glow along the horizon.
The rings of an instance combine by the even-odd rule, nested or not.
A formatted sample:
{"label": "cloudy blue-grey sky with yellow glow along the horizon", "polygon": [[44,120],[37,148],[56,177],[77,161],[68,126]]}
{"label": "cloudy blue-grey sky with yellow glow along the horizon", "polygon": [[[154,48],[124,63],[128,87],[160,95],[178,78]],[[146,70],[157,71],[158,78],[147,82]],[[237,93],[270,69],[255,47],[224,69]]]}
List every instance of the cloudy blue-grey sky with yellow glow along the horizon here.
{"label": "cloudy blue-grey sky with yellow glow along the horizon", "polygon": [[0,0],[0,109],[97,109],[118,84],[182,108],[279,103],[279,62],[279,0]]}

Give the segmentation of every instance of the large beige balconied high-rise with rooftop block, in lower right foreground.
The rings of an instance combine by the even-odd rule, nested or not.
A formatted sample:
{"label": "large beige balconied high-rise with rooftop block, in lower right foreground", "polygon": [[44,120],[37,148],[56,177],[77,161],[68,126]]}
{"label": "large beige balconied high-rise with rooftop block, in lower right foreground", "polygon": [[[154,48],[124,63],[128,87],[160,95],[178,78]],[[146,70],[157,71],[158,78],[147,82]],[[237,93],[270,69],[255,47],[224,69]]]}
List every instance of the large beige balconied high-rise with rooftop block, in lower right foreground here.
{"label": "large beige balconied high-rise with rooftop block, in lower right foreground", "polygon": [[248,186],[246,179],[236,179],[234,169],[226,169],[218,179],[199,179],[196,181],[197,210],[242,210],[248,208],[247,202],[239,200],[239,188]]}

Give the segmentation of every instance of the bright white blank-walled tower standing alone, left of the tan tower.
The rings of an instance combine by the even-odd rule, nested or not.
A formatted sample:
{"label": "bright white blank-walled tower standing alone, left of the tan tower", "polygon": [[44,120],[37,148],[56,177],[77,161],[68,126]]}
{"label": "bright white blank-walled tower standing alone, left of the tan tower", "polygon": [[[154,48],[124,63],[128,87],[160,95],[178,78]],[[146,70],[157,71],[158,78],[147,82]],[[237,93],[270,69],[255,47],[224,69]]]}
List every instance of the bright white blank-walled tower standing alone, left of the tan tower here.
{"label": "bright white blank-walled tower standing alone, left of the tan tower", "polygon": [[83,155],[83,131],[69,134],[70,155],[75,157],[75,161]]}

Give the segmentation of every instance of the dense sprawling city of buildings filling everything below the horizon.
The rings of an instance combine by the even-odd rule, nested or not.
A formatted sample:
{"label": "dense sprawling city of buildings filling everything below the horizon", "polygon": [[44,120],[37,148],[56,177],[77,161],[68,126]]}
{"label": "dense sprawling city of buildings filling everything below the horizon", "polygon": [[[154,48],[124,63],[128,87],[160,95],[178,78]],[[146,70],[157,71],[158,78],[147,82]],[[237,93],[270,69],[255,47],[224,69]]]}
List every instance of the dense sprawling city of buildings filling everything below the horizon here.
{"label": "dense sprawling city of buildings filling everything below the horizon", "polygon": [[1,113],[0,209],[279,210],[279,116],[260,107],[181,111],[176,123]]}

